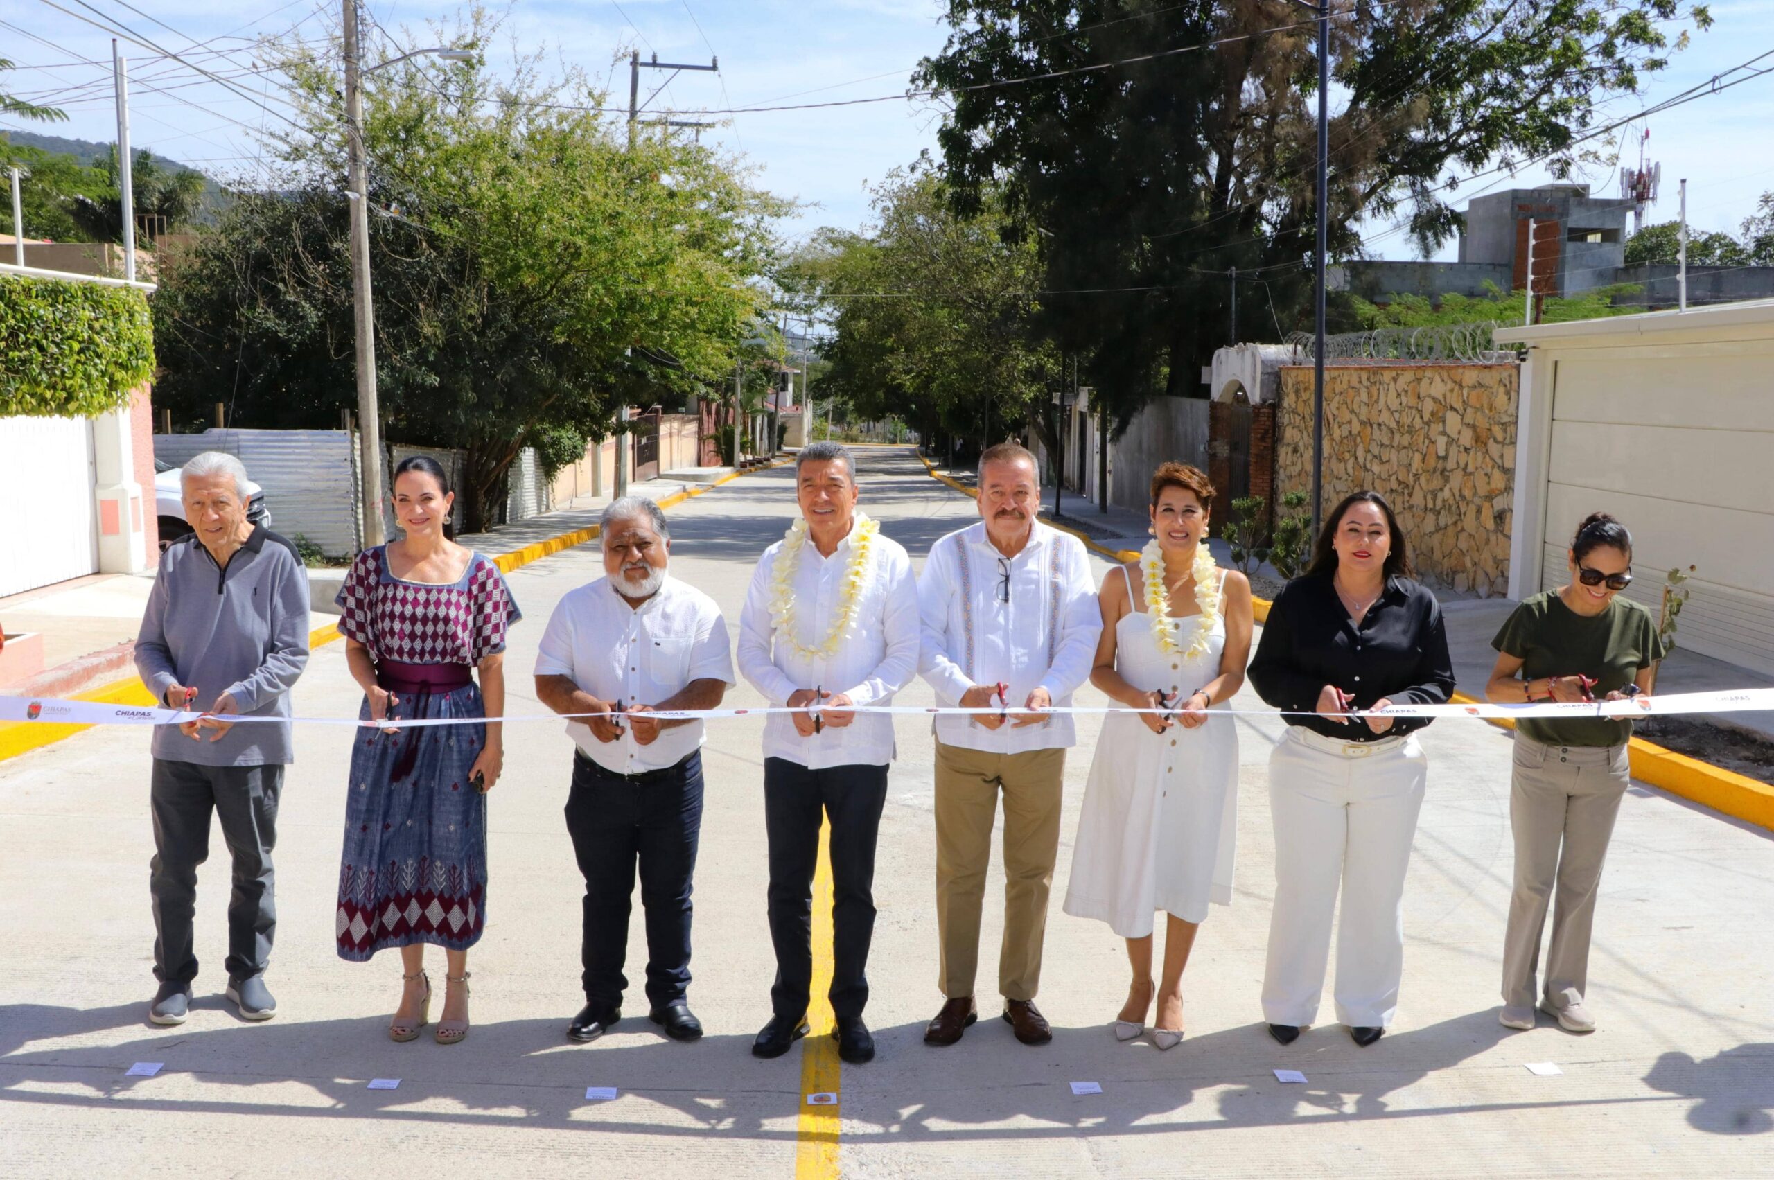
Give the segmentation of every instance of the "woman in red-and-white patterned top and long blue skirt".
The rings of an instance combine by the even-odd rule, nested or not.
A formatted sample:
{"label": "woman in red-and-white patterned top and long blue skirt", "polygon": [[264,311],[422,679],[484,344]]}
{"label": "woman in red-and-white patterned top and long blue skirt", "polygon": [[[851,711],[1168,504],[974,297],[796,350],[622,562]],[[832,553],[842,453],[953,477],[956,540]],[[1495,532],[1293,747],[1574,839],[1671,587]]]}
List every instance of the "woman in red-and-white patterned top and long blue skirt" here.
{"label": "woman in red-and-white patterned top and long blue skirt", "polygon": [[444,536],[452,502],[436,461],[404,460],[394,511],[406,536],[358,554],[337,600],[362,719],[467,722],[357,731],[339,866],[339,956],[401,948],[390,1038],[415,1040],[429,1022],[424,944],[444,948],[440,1045],[468,1034],[468,948],[486,928],[486,791],[504,761],[500,724],[479,719],[504,713],[506,628],[522,618],[498,568]]}

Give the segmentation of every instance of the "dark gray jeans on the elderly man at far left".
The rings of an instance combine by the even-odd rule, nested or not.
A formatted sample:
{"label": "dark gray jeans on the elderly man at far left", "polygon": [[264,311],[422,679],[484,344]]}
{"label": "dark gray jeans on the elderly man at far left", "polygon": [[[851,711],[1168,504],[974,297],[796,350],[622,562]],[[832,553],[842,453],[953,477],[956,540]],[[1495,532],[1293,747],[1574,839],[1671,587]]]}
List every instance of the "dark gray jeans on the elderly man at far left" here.
{"label": "dark gray jeans on the elderly man at far left", "polygon": [[154,978],[190,983],[197,978],[192,914],[197,909],[197,866],[209,859],[209,813],[222,820],[222,839],[234,857],[234,891],[227,903],[227,974],[264,974],[277,933],[271,848],[277,845],[277,797],[282,767],[199,767],[154,759],[149,807],[154,813],[154,859],[147,891],[154,907]]}

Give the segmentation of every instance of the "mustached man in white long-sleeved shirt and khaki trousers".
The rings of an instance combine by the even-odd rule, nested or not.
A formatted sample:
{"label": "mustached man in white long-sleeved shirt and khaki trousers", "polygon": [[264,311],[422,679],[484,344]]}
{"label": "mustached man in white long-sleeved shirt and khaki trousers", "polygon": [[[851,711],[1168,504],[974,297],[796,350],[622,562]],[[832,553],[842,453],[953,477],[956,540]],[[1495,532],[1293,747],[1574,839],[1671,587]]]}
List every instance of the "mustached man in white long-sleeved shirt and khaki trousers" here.
{"label": "mustached man in white long-sleeved shirt and khaki trousers", "polygon": [[944,1004],[926,1045],[953,1045],[977,1019],[979,910],[992,820],[1004,795],[1004,1020],[1025,1045],[1052,1029],[1034,1006],[1041,983],[1047,894],[1059,854],[1068,706],[1091,674],[1102,614],[1077,538],[1036,520],[1034,456],[1017,444],[979,456],[979,523],[930,548],[917,584],[924,648],[919,671],[937,703],[997,708],[949,713],[937,731],[937,930]]}

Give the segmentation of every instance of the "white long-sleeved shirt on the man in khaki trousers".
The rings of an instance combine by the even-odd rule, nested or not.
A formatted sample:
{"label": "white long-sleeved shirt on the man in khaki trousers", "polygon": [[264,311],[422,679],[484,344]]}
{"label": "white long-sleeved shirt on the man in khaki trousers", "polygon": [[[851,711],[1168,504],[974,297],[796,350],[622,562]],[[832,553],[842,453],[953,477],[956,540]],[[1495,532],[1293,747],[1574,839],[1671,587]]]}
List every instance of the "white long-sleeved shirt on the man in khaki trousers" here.
{"label": "white long-sleeved shirt on the man in khaki trousers", "polygon": [[[917,580],[924,632],[917,671],[940,704],[960,704],[974,685],[997,683],[1009,685],[1011,706],[1036,688],[1047,688],[1054,704],[1071,704],[1071,694],[1089,680],[1102,633],[1089,557],[1075,536],[1041,522],[1032,529],[1015,557],[993,548],[985,522],[930,547]],[[993,754],[1077,745],[1070,715],[997,729],[949,715],[937,717],[935,733],[947,745]]]}

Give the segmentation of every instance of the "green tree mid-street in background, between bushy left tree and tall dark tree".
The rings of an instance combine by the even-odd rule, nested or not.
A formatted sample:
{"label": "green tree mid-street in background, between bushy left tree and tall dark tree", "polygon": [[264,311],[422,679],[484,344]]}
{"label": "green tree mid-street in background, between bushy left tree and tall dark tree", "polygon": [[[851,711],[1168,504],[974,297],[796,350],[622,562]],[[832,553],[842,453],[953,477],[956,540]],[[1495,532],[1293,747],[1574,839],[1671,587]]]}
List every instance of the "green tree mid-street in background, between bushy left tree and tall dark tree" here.
{"label": "green tree mid-street in background, between bushy left tree and tall dark tree", "polygon": [[986,445],[1034,426],[1052,442],[1061,362],[1032,330],[1041,268],[1029,234],[992,193],[956,213],[926,167],[891,174],[873,206],[869,231],[820,231],[781,277],[832,325],[820,396],[926,438]]}

